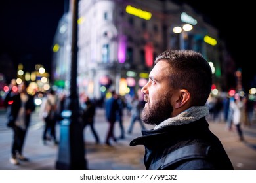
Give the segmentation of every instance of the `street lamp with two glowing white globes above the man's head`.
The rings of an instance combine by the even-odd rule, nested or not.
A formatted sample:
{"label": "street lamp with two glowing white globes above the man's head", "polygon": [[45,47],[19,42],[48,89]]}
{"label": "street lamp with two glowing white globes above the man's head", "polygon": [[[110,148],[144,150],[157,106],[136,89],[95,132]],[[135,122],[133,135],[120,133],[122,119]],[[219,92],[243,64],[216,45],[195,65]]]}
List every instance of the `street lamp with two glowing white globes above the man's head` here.
{"label": "street lamp with two glowing white globes above the man's head", "polygon": [[173,33],[179,33],[180,49],[186,49],[186,40],[188,39],[188,31],[191,31],[193,26],[190,24],[184,24],[182,27],[173,27]]}

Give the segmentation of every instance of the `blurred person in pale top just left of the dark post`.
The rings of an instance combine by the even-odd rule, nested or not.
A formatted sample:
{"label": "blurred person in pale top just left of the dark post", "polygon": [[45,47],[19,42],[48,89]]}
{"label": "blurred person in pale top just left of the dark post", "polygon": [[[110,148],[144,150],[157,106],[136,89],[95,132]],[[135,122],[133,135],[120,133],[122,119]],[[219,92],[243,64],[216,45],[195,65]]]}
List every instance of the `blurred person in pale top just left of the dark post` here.
{"label": "blurred person in pale top just left of the dark post", "polygon": [[51,89],[44,97],[40,107],[40,116],[45,122],[42,137],[43,144],[46,145],[47,141],[53,141],[57,145],[56,123],[58,121],[58,97],[55,90]]}

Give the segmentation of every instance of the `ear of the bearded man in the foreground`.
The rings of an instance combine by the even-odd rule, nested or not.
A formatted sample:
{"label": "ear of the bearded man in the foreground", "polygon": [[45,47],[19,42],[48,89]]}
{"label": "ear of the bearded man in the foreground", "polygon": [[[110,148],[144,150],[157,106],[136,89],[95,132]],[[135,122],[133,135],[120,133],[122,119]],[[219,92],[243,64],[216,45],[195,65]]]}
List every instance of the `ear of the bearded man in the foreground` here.
{"label": "ear of the bearded man in the foreground", "polygon": [[182,89],[177,91],[176,100],[173,105],[174,108],[181,108],[184,105],[188,105],[188,101],[190,101],[190,92],[186,89]]}

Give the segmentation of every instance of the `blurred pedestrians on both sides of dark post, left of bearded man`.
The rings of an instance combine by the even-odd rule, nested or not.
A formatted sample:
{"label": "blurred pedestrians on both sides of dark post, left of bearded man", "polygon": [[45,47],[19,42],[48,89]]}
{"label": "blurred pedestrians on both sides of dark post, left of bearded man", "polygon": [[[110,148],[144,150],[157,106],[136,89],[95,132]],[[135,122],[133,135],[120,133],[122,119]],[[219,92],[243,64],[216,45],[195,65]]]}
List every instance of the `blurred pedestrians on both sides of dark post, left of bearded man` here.
{"label": "blurred pedestrians on both sides of dark post, left of bearded man", "polygon": [[[4,105],[7,109],[7,127],[13,131],[11,144],[10,163],[19,165],[20,161],[29,161],[29,157],[22,154],[26,134],[30,126],[31,114],[39,109],[39,118],[43,122],[43,133],[41,135],[42,145],[54,144],[58,146],[59,137],[56,135],[56,126],[63,118],[66,110],[70,109],[70,97],[68,93],[58,91],[52,87],[45,93],[33,93],[29,91],[29,84],[22,82],[17,84],[15,80],[9,84],[4,97]],[[138,121],[142,129],[145,129],[140,120],[140,111],[144,106],[142,100],[135,96],[121,96],[114,90],[110,90],[103,100],[90,98],[87,93],[81,93],[78,97],[78,122],[81,128],[90,127],[95,137],[95,143],[99,144],[100,137],[95,128],[96,108],[104,108],[106,122],[109,127],[106,129],[104,144],[112,146],[113,143],[125,139],[126,133],[132,133],[133,125]],[[123,113],[131,116],[131,125],[126,131],[123,125]],[[118,123],[118,126],[115,124]],[[116,137],[114,127],[120,127],[121,135]],[[28,137],[29,138],[29,137]]]}

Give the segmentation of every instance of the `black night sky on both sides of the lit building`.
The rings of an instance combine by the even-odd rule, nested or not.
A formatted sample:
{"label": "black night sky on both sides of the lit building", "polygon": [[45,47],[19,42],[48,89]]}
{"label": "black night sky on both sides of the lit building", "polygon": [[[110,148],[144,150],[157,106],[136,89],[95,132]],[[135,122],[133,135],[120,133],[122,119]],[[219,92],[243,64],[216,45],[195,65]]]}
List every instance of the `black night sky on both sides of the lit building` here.
{"label": "black night sky on both sides of the lit building", "polygon": [[[244,80],[252,80],[256,72],[251,65],[255,63],[255,33],[249,27],[253,22],[251,3],[232,1],[224,5],[224,1],[175,1],[192,5],[207,22],[219,29],[236,67],[242,68]],[[63,13],[64,0],[1,1],[0,55],[9,54],[15,63],[29,63],[27,67],[41,63],[51,70],[53,37]]]}

